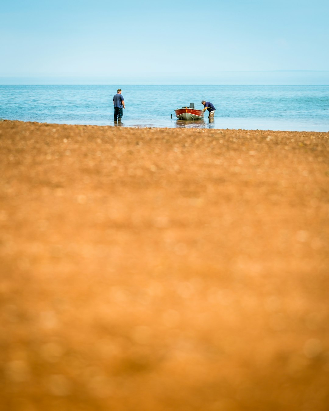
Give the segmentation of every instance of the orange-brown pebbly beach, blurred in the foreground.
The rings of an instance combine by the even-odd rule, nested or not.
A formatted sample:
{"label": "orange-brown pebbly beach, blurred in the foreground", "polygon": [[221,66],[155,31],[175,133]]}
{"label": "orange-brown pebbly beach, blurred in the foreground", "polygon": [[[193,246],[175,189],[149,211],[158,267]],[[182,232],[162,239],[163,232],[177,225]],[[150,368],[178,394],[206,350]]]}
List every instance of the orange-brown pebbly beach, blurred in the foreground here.
{"label": "orange-brown pebbly beach, blurred in the foreground", "polygon": [[329,133],[0,122],[0,409],[329,408]]}

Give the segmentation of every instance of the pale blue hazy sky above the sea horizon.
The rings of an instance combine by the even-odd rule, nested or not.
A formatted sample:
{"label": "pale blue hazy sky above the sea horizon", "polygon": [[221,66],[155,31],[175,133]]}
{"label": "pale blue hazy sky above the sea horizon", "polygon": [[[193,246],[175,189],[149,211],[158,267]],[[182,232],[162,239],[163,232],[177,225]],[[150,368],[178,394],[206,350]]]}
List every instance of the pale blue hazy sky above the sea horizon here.
{"label": "pale blue hazy sky above the sea horizon", "polygon": [[329,84],[326,0],[2,0],[0,83]]}

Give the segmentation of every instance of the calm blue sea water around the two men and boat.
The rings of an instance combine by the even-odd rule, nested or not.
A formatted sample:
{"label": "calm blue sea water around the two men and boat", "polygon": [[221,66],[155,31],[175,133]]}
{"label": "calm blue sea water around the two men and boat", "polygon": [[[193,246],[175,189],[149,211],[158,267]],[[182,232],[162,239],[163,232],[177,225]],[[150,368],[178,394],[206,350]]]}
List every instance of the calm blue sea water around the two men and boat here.
{"label": "calm blue sea water around the two men and boat", "polygon": [[[329,85],[127,85],[123,126],[207,127],[329,131]],[[113,125],[109,85],[0,85],[0,118],[65,124]],[[215,121],[184,122],[175,109],[205,99],[216,108]],[[171,114],[173,118],[171,119]]]}

